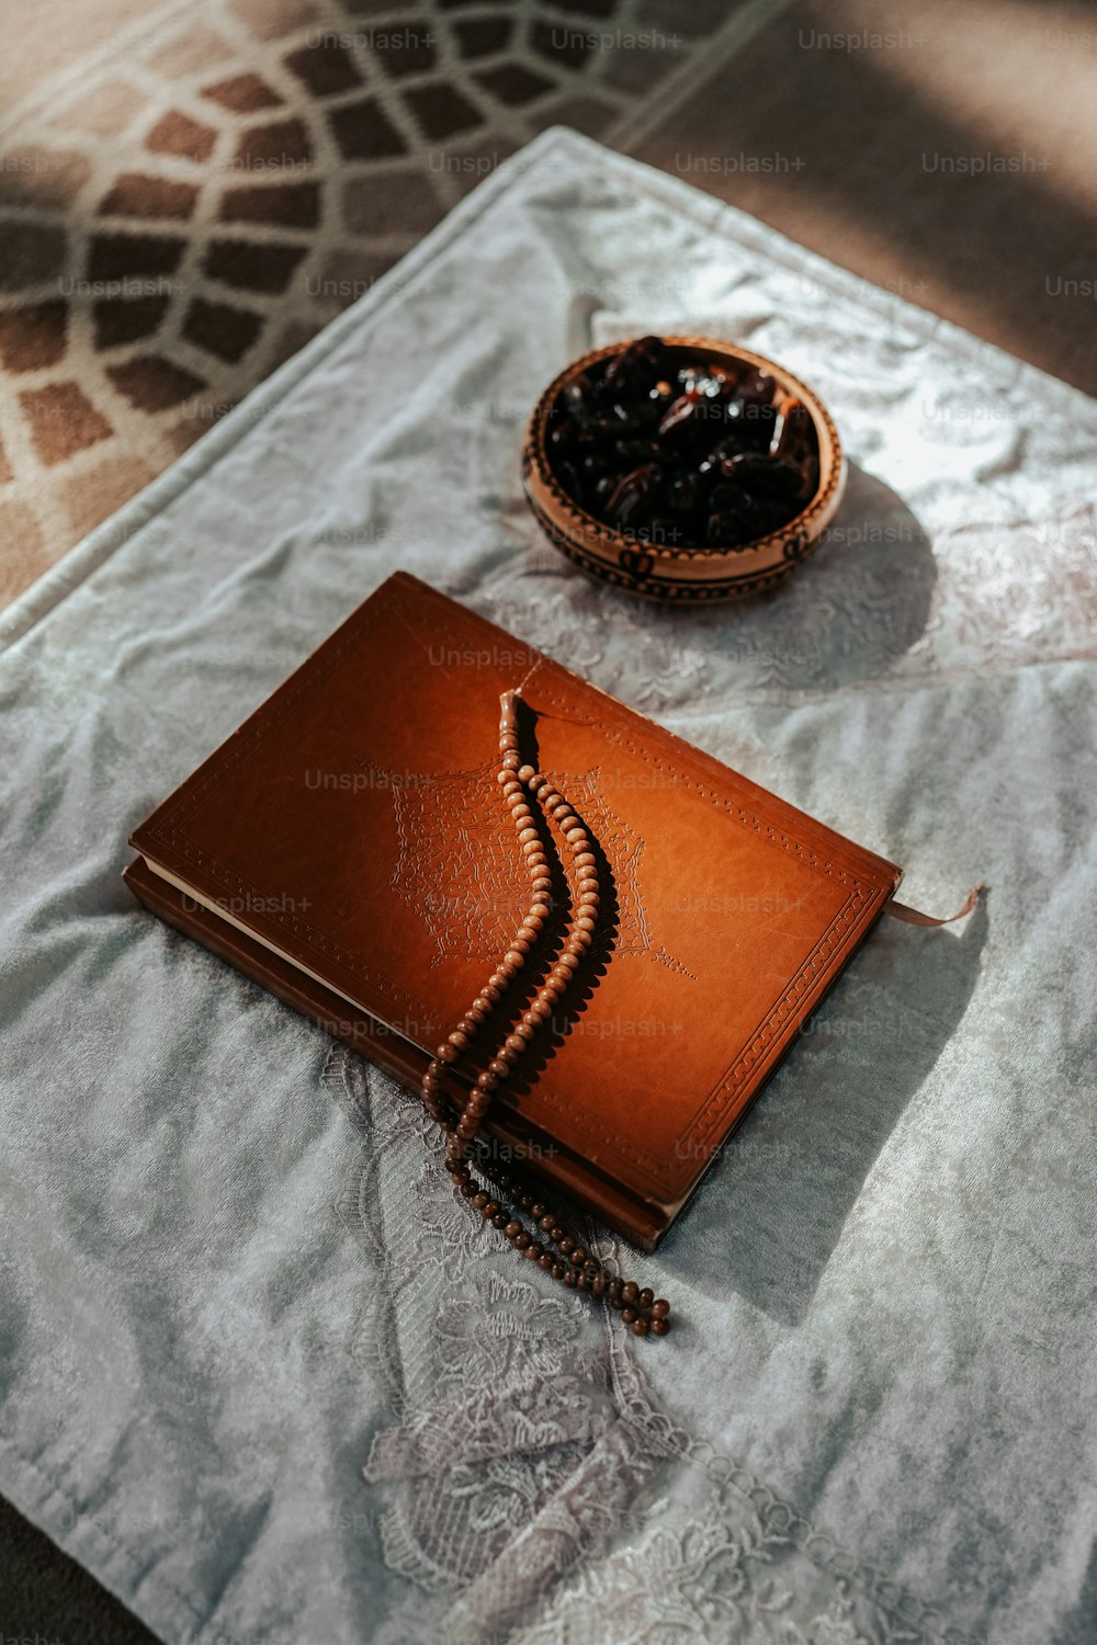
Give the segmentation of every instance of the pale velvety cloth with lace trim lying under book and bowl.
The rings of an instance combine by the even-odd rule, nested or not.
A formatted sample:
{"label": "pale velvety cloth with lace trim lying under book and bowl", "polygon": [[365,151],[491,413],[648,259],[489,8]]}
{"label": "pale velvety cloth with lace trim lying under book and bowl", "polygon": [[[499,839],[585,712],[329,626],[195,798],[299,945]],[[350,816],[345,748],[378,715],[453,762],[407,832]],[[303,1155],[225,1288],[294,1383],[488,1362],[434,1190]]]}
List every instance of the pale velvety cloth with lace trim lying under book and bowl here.
{"label": "pale velvety cloth with lace trim lying under book and bowl", "polygon": [[[539,387],[661,329],[842,429],[765,600],[630,604],[523,503]],[[8,614],[0,1489],[164,1640],[1094,1637],[1095,452],[1081,395],[551,133]],[[120,883],[396,566],[908,901],[990,883],[885,921],[640,1263],[666,1342],[497,1253],[413,1097]]]}

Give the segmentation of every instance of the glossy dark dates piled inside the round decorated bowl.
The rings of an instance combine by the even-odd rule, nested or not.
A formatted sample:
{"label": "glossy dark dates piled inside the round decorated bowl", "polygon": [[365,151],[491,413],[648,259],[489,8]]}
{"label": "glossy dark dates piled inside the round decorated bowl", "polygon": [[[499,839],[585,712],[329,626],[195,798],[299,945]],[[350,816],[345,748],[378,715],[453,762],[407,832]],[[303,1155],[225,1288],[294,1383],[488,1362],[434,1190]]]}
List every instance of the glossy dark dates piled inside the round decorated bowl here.
{"label": "glossy dark dates piled inside the round decorated bowl", "polygon": [[561,392],[549,466],[622,535],[668,548],[742,548],[794,520],[819,487],[808,410],[768,372],[640,337]]}

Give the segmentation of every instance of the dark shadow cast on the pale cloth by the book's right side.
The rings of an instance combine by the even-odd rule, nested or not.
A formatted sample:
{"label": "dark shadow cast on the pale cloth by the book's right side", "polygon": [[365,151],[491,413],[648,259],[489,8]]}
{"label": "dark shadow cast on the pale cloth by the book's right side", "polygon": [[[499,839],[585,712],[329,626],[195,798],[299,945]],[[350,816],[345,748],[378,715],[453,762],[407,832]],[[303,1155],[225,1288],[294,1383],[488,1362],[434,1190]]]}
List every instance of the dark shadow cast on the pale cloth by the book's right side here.
{"label": "dark shadow cast on the pale cloth by the book's right side", "polygon": [[660,1253],[704,1295],[799,1324],[891,1132],[975,989],[985,898],[957,934],[886,916],[804,1025]]}

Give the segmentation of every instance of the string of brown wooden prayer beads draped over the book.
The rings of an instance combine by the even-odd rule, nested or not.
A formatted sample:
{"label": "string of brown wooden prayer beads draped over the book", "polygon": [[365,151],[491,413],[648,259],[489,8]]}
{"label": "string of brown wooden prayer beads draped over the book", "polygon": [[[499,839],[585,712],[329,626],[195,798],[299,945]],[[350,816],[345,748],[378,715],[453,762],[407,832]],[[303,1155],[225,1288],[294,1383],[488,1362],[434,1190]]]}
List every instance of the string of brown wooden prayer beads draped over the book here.
{"label": "string of brown wooden prayer beads draped over the book", "polygon": [[[516,701],[516,691],[505,691],[500,697],[498,750],[502,760],[497,780],[503,790],[503,801],[510,808],[518,834],[518,847],[530,873],[530,911],[498,962],[498,969],[492,972],[449,1038],[439,1045],[437,1054],[423,1076],[423,1101],[431,1117],[447,1132],[446,1170],[452,1178],[454,1188],[464,1199],[472,1201],[474,1207],[492,1227],[502,1230],[503,1237],[510,1240],[520,1255],[530,1262],[536,1262],[539,1268],[551,1273],[554,1280],[561,1280],[571,1290],[604,1296],[620,1313],[625,1324],[632,1326],[636,1336],[648,1336],[648,1332],[666,1336],[671,1328],[669,1303],[656,1298],[648,1288],[641,1290],[632,1280],[615,1278],[607,1268],[600,1267],[581,1242],[567,1234],[556,1216],[535,1194],[523,1191],[521,1184],[511,1181],[508,1175],[492,1171],[492,1183],[503,1199],[508,1201],[505,1204],[503,1199],[493,1198],[488,1188],[477,1183],[469,1168],[469,1150],[484,1125],[492,1105],[493,1091],[511,1073],[539,1023],[553,1015],[558,1000],[579,967],[582,954],[594,941],[600,900],[597,862],[590,836],[564,796],[553,788],[548,776],[543,776],[531,765],[521,763]],[[484,1022],[490,1017],[518,972],[526,966],[553,905],[553,882],[548,859],[538,829],[533,826],[533,811],[530,809],[526,795],[535,796],[543,813],[561,829],[571,850],[579,892],[567,928],[567,941],[561,954],[556,957],[553,969],[530,1005],[526,1005],[511,1033],[498,1046],[487,1069],[477,1076],[475,1086],[472,1086],[464,1099],[459,1099],[461,1112],[454,1122],[442,1091],[446,1076],[457,1058],[470,1048]],[[521,1221],[521,1212],[530,1217],[531,1229]]]}

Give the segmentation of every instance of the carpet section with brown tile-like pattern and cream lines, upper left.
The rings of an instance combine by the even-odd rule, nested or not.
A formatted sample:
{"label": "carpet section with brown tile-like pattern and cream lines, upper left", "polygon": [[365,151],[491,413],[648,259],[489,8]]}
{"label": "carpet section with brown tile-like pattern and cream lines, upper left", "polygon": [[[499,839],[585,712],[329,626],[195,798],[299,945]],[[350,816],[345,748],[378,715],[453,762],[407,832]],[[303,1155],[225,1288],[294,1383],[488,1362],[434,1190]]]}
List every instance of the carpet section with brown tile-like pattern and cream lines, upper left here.
{"label": "carpet section with brown tile-like pattern and cream lines, upper left", "polygon": [[173,0],[48,81],[0,127],[0,604],[500,160],[554,123],[623,145],[738,20],[735,0]]}

